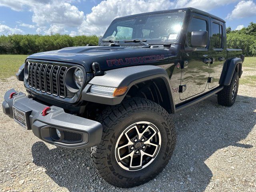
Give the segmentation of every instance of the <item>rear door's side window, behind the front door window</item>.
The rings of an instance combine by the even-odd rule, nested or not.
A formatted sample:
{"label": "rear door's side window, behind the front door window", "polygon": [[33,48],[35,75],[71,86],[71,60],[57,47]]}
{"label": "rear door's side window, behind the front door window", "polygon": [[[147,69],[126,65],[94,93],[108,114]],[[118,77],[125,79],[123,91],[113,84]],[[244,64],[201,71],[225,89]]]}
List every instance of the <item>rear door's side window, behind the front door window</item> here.
{"label": "rear door's side window, behind the front door window", "polygon": [[212,48],[222,48],[222,26],[212,23]]}

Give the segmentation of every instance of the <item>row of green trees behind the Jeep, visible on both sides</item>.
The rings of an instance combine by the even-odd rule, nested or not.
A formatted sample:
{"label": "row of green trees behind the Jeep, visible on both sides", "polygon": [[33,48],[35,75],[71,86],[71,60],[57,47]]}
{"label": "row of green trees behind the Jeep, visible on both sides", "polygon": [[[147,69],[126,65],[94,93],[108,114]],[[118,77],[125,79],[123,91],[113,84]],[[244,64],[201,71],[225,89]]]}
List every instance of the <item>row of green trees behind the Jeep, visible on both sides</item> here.
{"label": "row of green trees behind the Jeep, visible on both sides", "polygon": [[[241,48],[245,56],[256,56],[256,23],[241,30],[226,29],[228,48]],[[64,47],[98,44],[98,36],[20,35],[0,36],[0,54],[33,54]]]}

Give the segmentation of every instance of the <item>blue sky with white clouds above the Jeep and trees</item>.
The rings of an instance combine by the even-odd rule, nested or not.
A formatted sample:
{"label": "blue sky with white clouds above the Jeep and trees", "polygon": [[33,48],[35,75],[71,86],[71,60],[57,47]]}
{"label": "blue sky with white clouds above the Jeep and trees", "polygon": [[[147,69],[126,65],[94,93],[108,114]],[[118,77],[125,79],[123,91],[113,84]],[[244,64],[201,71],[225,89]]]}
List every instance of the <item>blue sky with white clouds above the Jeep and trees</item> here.
{"label": "blue sky with white clouds above the Jeep and trees", "polygon": [[103,35],[120,16],[193,7],[232,30],[256,22],[256,0],[0,0],[0,35]]}

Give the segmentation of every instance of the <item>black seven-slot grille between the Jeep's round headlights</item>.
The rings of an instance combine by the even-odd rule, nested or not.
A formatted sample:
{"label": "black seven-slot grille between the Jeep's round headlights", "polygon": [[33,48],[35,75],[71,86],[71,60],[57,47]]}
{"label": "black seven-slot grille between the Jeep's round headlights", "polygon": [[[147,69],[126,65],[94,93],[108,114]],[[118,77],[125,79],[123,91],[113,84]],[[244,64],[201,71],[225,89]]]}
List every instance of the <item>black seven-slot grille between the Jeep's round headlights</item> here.
{"label": "black seven-slot grille between the Jeep's round headlights", "polygon": [[68,69],[66,66],[30,62],[28,68],[30,88],[62,98],[74,96],[64,84],[64,75]]}

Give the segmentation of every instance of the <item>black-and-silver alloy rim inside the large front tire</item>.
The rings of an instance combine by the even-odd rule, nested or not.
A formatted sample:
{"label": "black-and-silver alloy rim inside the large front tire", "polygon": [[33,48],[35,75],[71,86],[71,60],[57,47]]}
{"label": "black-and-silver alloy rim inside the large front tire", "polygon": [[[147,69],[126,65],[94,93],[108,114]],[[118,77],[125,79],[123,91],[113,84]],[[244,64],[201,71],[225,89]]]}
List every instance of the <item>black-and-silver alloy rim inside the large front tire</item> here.
{"label": "black-and-silver alloy rim inside the large front tire", "polygon": [[156,157],[161,146],[158,128],[150,122],[136,122],[120,134],[115,156],[125,170],[140,170]]}

